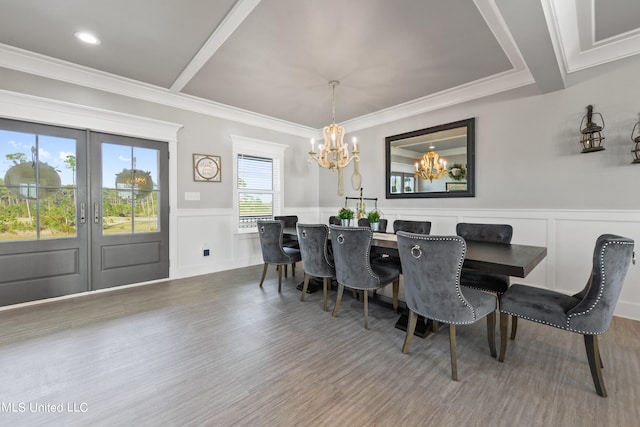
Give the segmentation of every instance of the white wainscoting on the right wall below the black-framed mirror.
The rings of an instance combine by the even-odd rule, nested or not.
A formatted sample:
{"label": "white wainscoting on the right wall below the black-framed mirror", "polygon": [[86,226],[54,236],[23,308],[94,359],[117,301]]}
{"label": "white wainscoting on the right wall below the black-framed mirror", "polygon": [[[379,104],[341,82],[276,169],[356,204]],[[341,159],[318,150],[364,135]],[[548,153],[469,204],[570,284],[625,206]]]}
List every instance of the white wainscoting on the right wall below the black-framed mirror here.
{"label": "white wainscoting on the right wall below the black-framed mirror", "polygon": [[[321,218],[335,215],[338,207],[322,208]],[[393,232],[395,219],[428,220],[431,234],[455,234],[458,222],[503,223],[513,226],[513,243],[546,246],[547,257],[526,278],[514,277],[512,283],[524,283],[560,292],[581,290],[591,272],[596,238],[612,233],[636,241],[640,254],[640,211],[596,210],[502,210],[502,209],[390,209],[381,208]],[[631,265],[616,306],[616,315],[640,320],[640,256]],[[391,296],[390,290],[382,292]],[[388,295],[387,295],[388,294]],[[402,291],[401,291],[402,294]]]}

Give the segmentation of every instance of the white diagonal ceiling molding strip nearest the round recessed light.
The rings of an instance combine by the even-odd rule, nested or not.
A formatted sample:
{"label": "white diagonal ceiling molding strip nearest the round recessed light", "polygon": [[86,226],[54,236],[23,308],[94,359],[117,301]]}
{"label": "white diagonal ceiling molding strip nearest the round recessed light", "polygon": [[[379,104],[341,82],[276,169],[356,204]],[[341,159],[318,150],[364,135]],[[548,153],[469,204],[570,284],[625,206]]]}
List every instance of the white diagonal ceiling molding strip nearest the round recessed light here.
{"label": "white diagonal ceiling molding strip nearest the round recessed light", "polygon": [[202,46],[191,62],[185,67],[184,71],[180,73],[180,76],[178,76],[173,85],[171,85],[170,89],[172,92],[180,92],[184,89],[193,76],[211,59],[220,46],[222,46],[236,28],[238,28],[242,21],[249,16],[260,1],[261,0],[238,0],[238,3],[234,5],[231,12],[224,18],[224,21],[222,21],[213,34],[211,34],[209,40],[206,41],[204,46]]}

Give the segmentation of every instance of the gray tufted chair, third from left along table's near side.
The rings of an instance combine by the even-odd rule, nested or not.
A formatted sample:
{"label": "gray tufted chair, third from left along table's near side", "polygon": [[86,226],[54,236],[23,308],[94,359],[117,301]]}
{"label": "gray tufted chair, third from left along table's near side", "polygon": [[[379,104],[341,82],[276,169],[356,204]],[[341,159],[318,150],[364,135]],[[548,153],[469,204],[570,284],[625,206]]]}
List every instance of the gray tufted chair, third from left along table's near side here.
{"label": "gray tufted chair, third from left along table's near side", "polygon": [[363,291],[364,327],[369,329],[368,291],[376,291],[393,283],[393,308],[398,311],[398,291],[400,272],[388,265],[372,262],[370,259],[373,232],[369,227],[340,227],[331,225],[331,246],[336,266],[338,295],[333,308],[333,316],[338,314],[344,287]]}

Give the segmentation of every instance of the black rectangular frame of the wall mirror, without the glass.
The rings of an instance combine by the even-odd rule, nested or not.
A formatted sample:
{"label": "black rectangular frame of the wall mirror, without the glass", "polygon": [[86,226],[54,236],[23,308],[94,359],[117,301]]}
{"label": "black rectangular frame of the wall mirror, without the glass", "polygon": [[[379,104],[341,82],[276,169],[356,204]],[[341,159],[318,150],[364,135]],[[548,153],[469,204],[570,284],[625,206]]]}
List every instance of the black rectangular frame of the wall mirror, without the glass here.
{"label": "black rectangular frame of the wall mirror, without the glass", "polygon": [[[443,125],[432,126],[426,129],[414,130],[411,132],[401,133],[399,135],[388,136],[385,141],[385,191],[387,199],[414,199],[414,198],[448,198],[448,197],[475,197],[475,143],[476,143],[476,131],[475,131],[475,117],[465,120],[459,120],[457,122],[446,123]],[[443,130],[455,129],[460,127],[467,128],[467,189],[465,191],[432,191],[422,193],[391,193],[391,143],[405,138],[413,138],[416,136],[427,135],[430,133],[440,132]]]}

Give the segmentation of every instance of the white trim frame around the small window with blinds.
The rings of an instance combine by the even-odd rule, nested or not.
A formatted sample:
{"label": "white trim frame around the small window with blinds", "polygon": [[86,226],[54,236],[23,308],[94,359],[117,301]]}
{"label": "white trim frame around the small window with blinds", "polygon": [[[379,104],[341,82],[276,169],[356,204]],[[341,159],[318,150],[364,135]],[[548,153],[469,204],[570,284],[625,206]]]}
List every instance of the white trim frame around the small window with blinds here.
{"label": "white trim frame around the small window with blinds", "polygon": [[240,191],[238,189],[238,156],[255,156],[271,159],[273,162],[273,215],[280,215],[284,205],[284,150],[287,146],[271,141],[231,135],[233,147],[233,222],[237,233],[256,233],[257,227],[240,227]]}

